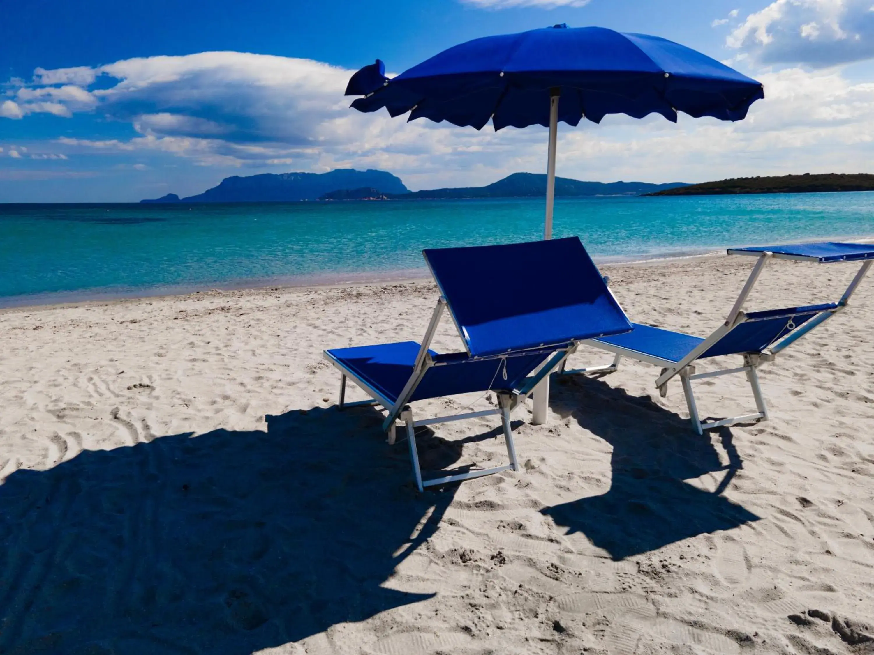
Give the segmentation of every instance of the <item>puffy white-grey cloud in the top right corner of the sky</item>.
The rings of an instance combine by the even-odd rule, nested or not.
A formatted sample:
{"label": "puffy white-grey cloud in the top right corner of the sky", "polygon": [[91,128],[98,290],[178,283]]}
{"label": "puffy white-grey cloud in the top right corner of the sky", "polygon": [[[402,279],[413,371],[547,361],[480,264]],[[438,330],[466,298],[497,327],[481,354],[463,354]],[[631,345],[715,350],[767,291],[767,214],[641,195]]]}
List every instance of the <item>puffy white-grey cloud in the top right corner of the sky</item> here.
{"label": "puffy white-grey cloud in the top right corner of the sky", "polygon": [[835,66],[874,58],[871,0],[776,0],[727,38],[764,65]]}

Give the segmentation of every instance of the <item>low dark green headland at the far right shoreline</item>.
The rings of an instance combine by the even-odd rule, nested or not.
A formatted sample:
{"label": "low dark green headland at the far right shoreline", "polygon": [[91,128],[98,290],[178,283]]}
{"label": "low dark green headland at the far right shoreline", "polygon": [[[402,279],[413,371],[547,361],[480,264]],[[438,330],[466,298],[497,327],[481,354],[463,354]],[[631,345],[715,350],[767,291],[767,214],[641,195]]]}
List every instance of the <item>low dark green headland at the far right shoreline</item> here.
{"label": "low dark green headland at the far right shoreline", "polygon": [[690,184],[649,193],[649,196],[726,196],[747,193],[822,193],[874,191],[869,173],[805,173],[800,176],[734,177],[731,180]]}

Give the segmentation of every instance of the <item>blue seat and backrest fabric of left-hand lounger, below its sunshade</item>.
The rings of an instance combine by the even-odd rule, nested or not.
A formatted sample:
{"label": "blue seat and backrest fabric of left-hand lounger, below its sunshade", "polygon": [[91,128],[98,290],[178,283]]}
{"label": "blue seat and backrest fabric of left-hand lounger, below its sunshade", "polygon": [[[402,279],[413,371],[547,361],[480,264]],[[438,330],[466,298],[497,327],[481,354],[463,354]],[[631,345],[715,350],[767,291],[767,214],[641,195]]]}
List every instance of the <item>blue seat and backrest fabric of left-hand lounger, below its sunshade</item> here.
{"label": "blue seat and backrest fabric of left-hand lounger, below its sunshade", "polygon": [[[376,346],[336,348],[326,351],[343,367],[378,391],[386,400],[395,403],[413,374],[413,364],[419,354],[416,341],[383,343]],[[427,370],[409,402],[454,396],[485,390],[514,390],[531,371],[536,369],[551,353],[514,355],[497,359],[471,359],[464,353],[438,355],[428,351],[437,364]],[[459,356],[461,355],[461,356]],[[506,362],[507,379],[503,378]]]}

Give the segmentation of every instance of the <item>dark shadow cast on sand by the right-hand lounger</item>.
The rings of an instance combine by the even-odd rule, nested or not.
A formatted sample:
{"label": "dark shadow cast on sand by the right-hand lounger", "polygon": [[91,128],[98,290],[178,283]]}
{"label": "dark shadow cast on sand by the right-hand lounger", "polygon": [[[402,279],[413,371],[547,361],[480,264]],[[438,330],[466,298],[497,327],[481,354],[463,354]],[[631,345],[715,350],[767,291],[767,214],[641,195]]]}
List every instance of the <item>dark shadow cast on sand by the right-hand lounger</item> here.
{"label": "dark shadow cast on sand by the right-hand lounger", "polygon": [[[552,407],[613,446],[613,479],[607,493],[542,511],[568,534],[586,534],[614,560],[759,520],[720,495],[743,467],[730,429],[718,432],[728,458],[723,464],[708,434],[697,435],[649,397],[630,396],[599,379],[559,379]],[[683,481],[718,472],[724,475],[712,493]]]}

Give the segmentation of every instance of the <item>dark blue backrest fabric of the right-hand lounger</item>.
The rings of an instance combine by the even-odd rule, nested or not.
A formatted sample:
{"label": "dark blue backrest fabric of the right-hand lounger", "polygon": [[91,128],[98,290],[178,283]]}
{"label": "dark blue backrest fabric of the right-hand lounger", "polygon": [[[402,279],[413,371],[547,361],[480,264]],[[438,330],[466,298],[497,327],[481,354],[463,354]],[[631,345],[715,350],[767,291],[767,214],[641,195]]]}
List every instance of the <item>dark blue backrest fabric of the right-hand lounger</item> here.
{"label": "dark blue backrest fabric of the right-hand lounger", "polygon": [[744,321],[714,343],[700,358],[761,353],[773,343],[780,341],[796,327],[814,318],[817,314],[836,309],[834,302],[808,307],[789,307],[770,309],[764,312],[750,312]]}

